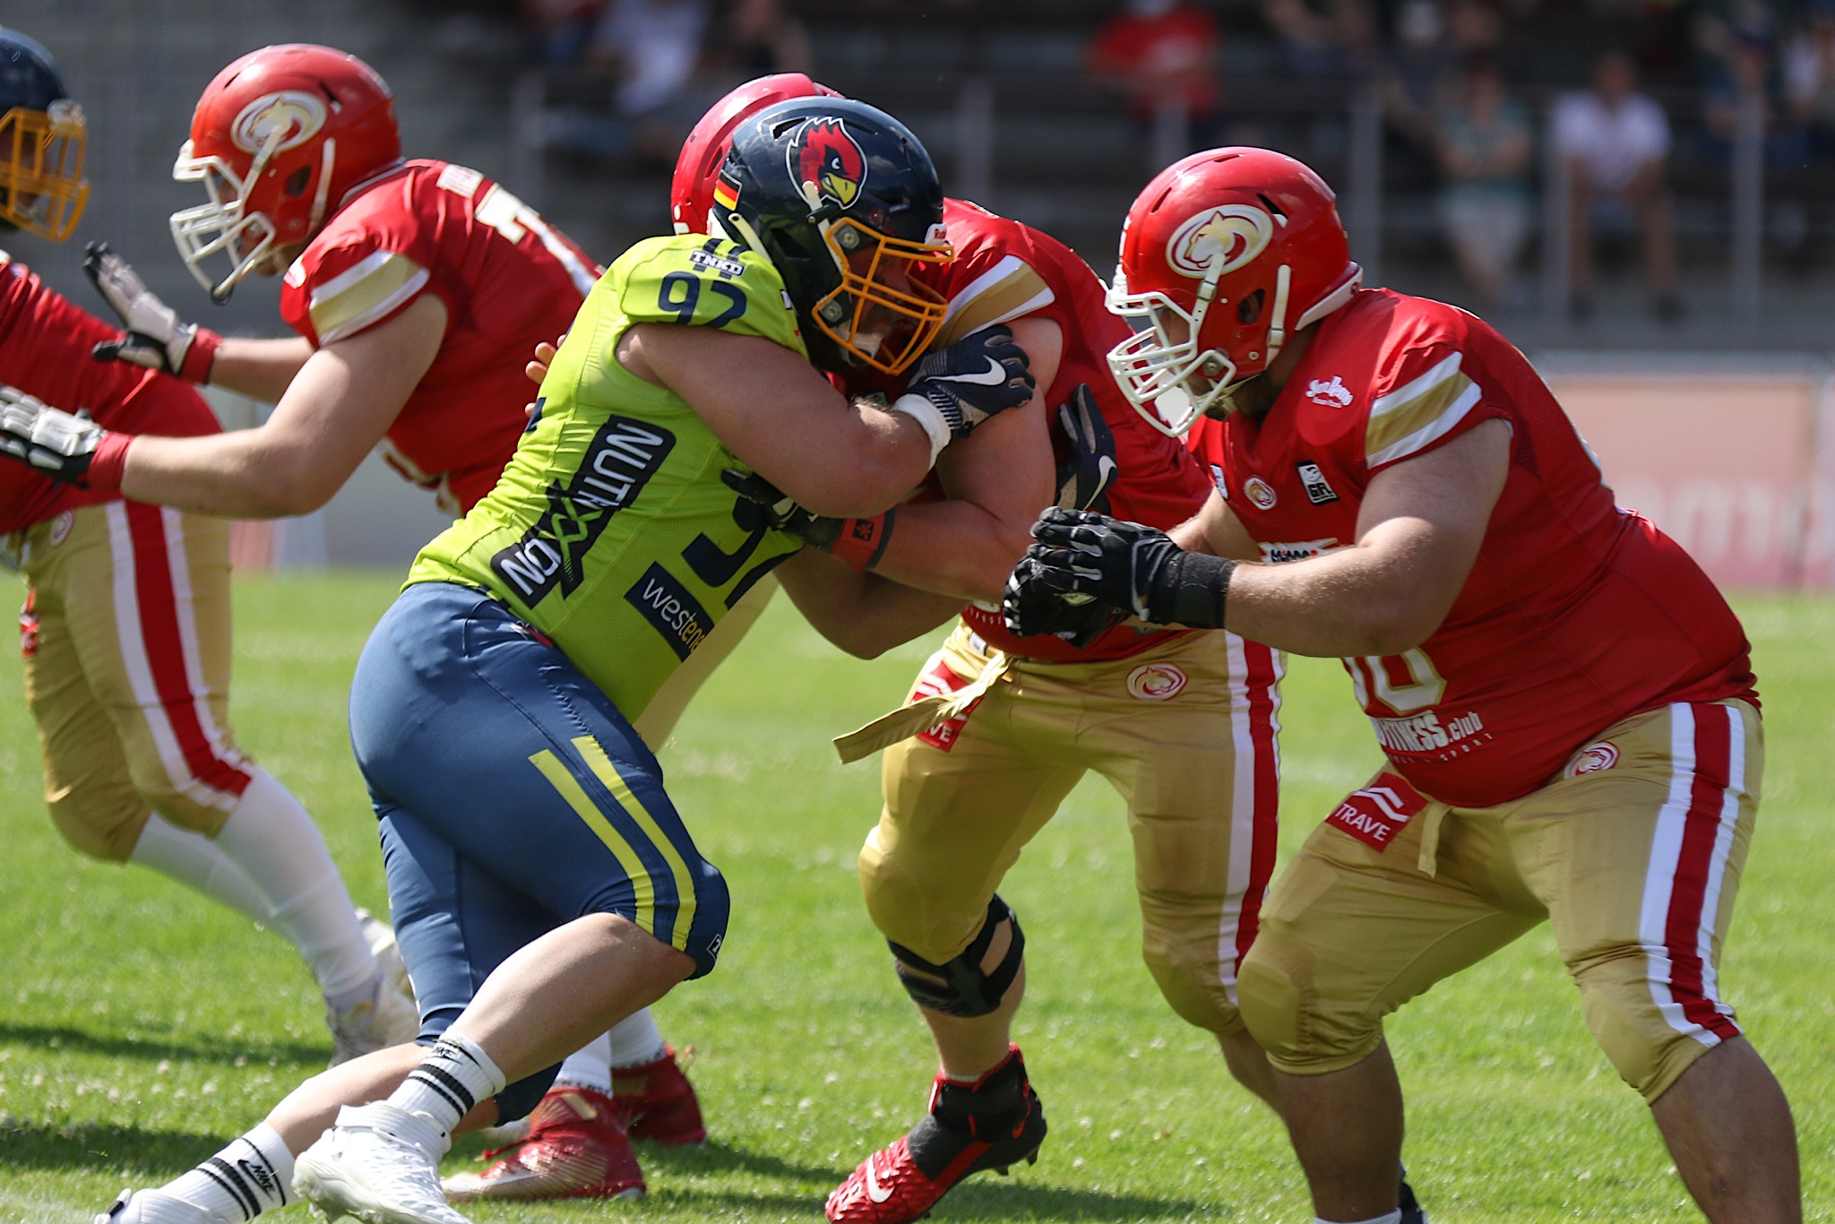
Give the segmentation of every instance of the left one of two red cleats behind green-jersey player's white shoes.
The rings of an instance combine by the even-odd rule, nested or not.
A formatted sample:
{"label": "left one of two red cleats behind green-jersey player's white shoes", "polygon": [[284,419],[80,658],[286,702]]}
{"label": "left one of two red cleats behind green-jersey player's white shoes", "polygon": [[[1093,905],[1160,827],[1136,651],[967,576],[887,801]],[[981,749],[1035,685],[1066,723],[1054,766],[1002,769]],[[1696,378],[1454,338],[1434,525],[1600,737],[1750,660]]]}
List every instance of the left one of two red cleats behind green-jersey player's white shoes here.
{"label": "left one of two red cleats behind green-jersey player's white shoes", "polygon": [[644,1171],[611,1097],[591,1088],[554,1088],[528,1116],[528,1138],[484,1152],[483,1173],[440,1185],[453,1202],[539,1198],[642,1198]]}

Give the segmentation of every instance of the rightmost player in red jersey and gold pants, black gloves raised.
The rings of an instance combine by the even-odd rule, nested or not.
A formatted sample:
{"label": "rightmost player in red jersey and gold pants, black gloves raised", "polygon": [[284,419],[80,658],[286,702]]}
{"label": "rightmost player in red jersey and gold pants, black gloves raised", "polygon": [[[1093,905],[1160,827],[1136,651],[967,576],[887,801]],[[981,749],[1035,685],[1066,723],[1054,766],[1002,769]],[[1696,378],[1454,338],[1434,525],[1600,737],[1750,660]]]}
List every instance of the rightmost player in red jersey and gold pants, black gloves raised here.
{"label": "rightmost player in red jersey and gold pants, black gloves raised", "polygon": [[1800,1218],[1789,1108],[1718,991],[1762,763],[1719,593],[1613,505],[1497,332],[1358,290],[1330,189],[1290,158],[1163,171],[1114,305],[1138,325],[1121,387],[1169,431],[1217,418],[1224,494],[1171,538],[1048,512],[1007,611],[1345,657],[1389,767],[1275,883],[1240,973],[1319,1218],[1398,1218],[1382,1018],[1543,918],[1708,1218]]}

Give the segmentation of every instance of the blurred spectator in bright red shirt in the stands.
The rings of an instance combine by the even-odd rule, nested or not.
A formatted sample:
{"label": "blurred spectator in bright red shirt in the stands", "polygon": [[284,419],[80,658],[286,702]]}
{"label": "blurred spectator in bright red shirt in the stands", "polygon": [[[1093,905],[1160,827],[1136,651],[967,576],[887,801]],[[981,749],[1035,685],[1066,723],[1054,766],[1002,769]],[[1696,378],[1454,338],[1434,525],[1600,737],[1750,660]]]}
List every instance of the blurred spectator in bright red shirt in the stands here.
{"label": "blurred spectator in bright red shirt in the stands", "polygon": [[1127,0],[1090,39],[1088,70],[1154,134],[1152,158],[1163,165],[1217,130],[1222,46],[1211,15],[1187,0]]}

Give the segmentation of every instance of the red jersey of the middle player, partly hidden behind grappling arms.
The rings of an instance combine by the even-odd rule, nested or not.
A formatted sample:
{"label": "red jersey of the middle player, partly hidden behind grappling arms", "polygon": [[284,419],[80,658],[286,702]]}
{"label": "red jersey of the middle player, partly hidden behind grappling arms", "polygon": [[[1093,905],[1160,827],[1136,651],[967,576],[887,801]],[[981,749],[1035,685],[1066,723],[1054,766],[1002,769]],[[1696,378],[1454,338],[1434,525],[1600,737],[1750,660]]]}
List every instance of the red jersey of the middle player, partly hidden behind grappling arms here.
{"label": "red jersey of the middle player, partly hidden behind grappling arms", "polygon": [[[918,270],[945,299],[949,316],[938,343],[951,343],[1022,316],[1057,323],[1064,334],[1064,352],[1057,378],[1046,389],[1051,409],[1051,446],[1066,453],[1066,439],[1057,422],[1057,406],[1070,400],[1079,384],[1088,384],[1103,420],[1116,435],[1119,475],[1108,488],[1110,514],[1151,527],[1184,523],[1204,505],[1209,483],[1191,455],[1136,413],[1108,373],[1108,351],[1127,339],[1129,327],[1103,305],[1103,283],[1090,266],[1057,239],[1006,217],[995,217],[978,204],[947,200],[943,224],[954,259]],[[895,393],[903,384],[850,376],[853,393]],[[1042,508],[1042,506],[1040,506]],[[1165,640],[1165,629],[1140,631],[1129,626],[1108,629],[1090,646],[1077,650],[1062,639],[1015,637],[998,607],[969,606],[962,611],[976,633],[1011,655],[1050,662],[1121,659]]]}

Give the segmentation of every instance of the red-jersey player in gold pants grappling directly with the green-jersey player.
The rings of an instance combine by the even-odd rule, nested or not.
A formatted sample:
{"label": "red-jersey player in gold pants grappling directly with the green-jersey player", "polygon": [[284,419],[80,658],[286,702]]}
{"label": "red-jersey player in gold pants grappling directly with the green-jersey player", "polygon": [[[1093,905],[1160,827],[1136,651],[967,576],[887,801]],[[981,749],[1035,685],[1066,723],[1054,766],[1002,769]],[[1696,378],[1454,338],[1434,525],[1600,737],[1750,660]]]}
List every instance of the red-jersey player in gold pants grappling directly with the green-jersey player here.
{"label": "red-jersey player in gold pants grappling directly with the green-jersey player", "polygon": [[[717,180],[725,132],[785,88],[824,92],[806,79],[760,81],[708,112],[677,163],[679,226],[728,224],[732,200]],[[936,483],[897,510],[806,519],[806,538],[822,551],[776,571],[826,637],[862,655],[960,613],[910,695],[932,701],[888,716],[851,749],[890,745],[861,883],[941,1070],[929,1116],[829,1196],[837,1224],[918,1218],[969,1173],[1039,1149],[1044,1114],[1009,1042],[1024,936],[995,888],[1090,769],[1129,806],[1143,956],[1162,993],[1215,1031],[1237,1077],[1268,1096],[1266,1063],[1237,1018],[1235,980],[1273,866],[1281,662],[1233,635],[1116,628],[1079,648],[1006,629],[1000,589],[1040,505],[1101,497],[1171,527],[1202,505],[1209,483],[1107,376],[1103,354],[1127,328],[1075,253],[963,200],[945,202],[943,224],[952,259],[914,273],[949,303],[938,347],[1011,327],[1039,395],[945,451]],[[855,395],[897,391],[868,369],[844,382]],[[1053,420],[1046,406],[1064,407]],[[1101,435],[1107,444],[1095,444]],[[1073,451],[1088,462],[1073,462]],[[940,712],[947,699],[952,708]]]}

